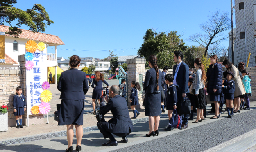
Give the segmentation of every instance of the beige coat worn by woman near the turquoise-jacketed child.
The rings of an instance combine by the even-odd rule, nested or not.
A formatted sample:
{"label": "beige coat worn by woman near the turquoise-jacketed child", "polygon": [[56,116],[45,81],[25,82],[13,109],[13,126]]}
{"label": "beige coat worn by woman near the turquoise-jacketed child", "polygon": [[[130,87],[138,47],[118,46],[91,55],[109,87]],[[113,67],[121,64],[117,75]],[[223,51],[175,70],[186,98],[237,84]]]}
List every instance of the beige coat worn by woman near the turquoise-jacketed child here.
{"label": "beige coat worn by woman near the turquoise-jacketed child", "polygon": [[238,69],[232,65],[231,69],[228,69],[228,72],[231,71],[234,74],[234,78],[232,80],[235,81],[235,94],[234,97],[238,97],[239,95],[245,94],[245,86],[243,86],[243,82],[241,81]]}

